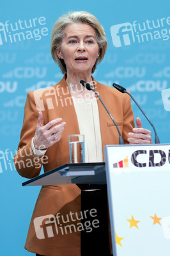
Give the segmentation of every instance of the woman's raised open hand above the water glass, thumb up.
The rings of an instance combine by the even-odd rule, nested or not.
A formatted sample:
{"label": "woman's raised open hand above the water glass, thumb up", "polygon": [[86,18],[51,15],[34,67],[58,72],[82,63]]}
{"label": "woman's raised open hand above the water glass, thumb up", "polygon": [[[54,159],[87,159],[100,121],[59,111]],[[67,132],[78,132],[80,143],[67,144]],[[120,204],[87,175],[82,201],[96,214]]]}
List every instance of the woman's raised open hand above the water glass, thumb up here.
{"label": "woman's raised open hand above the water glass, thumb up", "polygon": [[[62,121],[62,118],[56,118],[43,126],[43,114],[41,111],[38,113],[38,122],[33,141],[36,149],[43,150],[49,148],[54,143],[61,140],[61,133],[64,131],[66,125],[66,123]],[[52,127],[53,125],[55,126]],[[52,128],[50,129],[50,127]]]}

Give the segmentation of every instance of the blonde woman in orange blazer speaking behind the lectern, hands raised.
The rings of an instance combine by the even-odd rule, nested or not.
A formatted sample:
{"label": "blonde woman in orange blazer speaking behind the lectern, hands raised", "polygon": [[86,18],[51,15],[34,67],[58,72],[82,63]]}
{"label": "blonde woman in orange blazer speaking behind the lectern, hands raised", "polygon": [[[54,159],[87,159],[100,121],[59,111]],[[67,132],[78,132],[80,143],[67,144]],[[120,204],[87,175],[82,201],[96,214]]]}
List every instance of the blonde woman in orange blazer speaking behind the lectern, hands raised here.
{"label": "blonde woman in orange blazer speaking behind the lectern, hands raised", "polygon": [[[136,119],[130,97],[91,76],[107,49],[104,28],[88,12],[72,12],[54,24],[52,58],[64,77],[58,84],[27,93],[15,167],[22,177],[39,175],[70,162],[68,136],[84,134],[85,161],[104,161],[104,146],[119,136],[91,84],[118,124],[125,143],[151,143],[151,132]],[[94,222],[94,220],[96,220]],[[89,227],[90,223],[95,223]],[[67,226],[70,229],[66,229]],[[76,229],[74,227],[77,227]],[[31,218],[26,250],[36,255],[112,255],[106,186],[42,186]]]}

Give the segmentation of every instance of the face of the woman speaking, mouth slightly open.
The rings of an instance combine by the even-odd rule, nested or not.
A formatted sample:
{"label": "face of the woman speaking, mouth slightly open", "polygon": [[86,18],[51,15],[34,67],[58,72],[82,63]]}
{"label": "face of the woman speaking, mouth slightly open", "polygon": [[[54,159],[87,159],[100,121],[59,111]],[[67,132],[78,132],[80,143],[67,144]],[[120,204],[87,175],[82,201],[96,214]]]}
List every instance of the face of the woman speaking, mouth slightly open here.
{"label": "face of the woman speaking, mouth slightly open", "polygon": [[95,29],[88,24],[72,24],[65,28],[58,57],[65,61],[67,74],[90,73],[99,56]]}

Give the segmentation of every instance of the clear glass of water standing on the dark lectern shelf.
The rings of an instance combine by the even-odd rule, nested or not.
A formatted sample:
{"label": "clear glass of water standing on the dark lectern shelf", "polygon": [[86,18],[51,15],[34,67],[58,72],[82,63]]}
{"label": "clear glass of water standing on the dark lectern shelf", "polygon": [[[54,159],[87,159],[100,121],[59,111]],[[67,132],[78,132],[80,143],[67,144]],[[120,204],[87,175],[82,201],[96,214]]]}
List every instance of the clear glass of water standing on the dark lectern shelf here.
{"label": "clear glass of water standing on the dark lectern shelf", "polygon": [[70,163],[84,163],[84,135],[69,135]]}

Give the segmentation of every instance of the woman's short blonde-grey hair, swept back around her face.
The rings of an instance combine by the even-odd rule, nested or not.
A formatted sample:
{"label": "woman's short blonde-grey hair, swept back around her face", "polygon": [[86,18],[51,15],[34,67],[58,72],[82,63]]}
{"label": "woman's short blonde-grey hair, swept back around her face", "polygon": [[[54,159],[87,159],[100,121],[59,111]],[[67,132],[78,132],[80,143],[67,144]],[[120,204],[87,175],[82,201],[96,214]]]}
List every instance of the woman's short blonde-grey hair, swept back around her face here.
{"label": "woman's short blonde-grey hair, swept back around her face", "polygon": [[97,64],[104,58],[107,49],[107,39],[103,26],[98,22],[97,18],[89,12],[68,12],[61,16],[53,26],[51,35],[51,54],[53,60],[58,63],[59,68],[63,74],[66,73],[66,65],[63,59],[59,59],[57,50],[61,48],[61,42],[65,33],[65,28],[68,25],[81,23],[89,24],[95,29],[97,44],[99,47],[100,56],[97,58],[95,65],[92,68],[92,73],[95,72]]}

